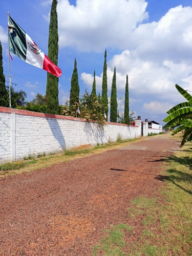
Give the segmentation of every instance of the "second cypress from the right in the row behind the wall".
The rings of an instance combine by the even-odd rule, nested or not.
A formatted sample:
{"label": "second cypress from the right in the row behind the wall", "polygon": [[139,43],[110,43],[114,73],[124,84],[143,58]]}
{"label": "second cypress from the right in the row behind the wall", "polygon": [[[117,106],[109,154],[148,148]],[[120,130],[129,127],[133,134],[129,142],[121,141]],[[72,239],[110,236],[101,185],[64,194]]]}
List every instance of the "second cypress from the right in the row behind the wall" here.
{"label": "second cypress from the right in the row behind the wall", "polygon": [[110,121],[117,122],[117,87],[116,87],[116,68],[114,68],[112,88],[111,88],[111,109]]}

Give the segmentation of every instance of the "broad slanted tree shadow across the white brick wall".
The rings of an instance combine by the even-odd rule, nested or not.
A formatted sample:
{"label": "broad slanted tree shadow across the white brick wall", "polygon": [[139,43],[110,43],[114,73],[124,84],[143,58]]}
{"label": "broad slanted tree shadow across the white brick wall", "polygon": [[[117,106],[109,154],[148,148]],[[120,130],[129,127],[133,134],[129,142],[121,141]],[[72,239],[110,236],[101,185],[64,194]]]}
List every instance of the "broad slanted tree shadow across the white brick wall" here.
{"label": "broad slanted tree shadow across the white brick wall", "polygon": [[60,147],[63,150],[64,148],[66,148],[66,141],[65,141],[65,138],[63,137],[62,131],[60,130],[60,126],[57,121],[57,118],[46,118],[46,119],[49,123],[50,129],[54,138],[58,141]]}

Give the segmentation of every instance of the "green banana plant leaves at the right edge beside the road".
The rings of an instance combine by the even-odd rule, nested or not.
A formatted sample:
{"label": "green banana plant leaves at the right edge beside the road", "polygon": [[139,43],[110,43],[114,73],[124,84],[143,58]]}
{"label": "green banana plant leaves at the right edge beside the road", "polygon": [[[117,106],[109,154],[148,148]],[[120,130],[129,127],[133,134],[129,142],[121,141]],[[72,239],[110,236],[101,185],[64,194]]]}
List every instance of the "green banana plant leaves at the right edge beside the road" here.
{"label": "green banana plant leaves at the right edge beside the road", "polygon": [[178,84],[176,84],[175,87],[187,101],[182,102],[167,111],[166,113],[168,116],[163,122],[167,122],[165,124],[165,129],[174,129],[177,127],[172,135],[184,131],[183,140],[180,145],[180,147],[182,147],[187,141],[192,140],[192,96],[178,86]]}

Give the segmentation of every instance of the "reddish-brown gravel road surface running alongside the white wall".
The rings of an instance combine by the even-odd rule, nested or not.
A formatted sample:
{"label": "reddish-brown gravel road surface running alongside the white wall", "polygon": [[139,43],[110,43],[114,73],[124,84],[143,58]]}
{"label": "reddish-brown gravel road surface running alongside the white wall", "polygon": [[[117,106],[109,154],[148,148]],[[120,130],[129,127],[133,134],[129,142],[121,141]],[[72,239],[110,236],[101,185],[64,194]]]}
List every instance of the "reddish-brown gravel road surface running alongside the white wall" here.
{"label": "reddish-brown gravel road surface running alongside the white wall", "polygon": [[[0,255],[91,255],[103,228],[127,223],[132,198],[158,197],[169,135],[0,179]],[[139,235],[139,219],[132,220]]]}

